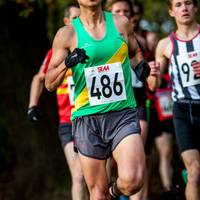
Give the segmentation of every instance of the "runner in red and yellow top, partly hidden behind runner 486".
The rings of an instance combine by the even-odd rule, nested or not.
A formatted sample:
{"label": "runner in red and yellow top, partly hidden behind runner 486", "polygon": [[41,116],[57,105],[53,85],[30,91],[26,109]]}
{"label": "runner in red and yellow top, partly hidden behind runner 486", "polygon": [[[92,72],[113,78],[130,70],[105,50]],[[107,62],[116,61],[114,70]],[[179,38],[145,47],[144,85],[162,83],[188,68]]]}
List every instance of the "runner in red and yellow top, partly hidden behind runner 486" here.
{"label": "runner in red and yellow top, partly hidden behind runner 486", "polygon": [[[68,5],[65,10],[64,23],[67,25],[74,17],[80,14],[77,4]],[[28,108],[28,118],[32,122],[39,121],[41,112],[38,108],[39,98],[44,89],[44,78],[52,56],[50,49],[40,67],[39,72],[33,77],[30,90],[30,100]],[[59,116],[58,135],[63,146],[64,154],[72,176],[72,199],[88,200],[86,185],[84,182],[78,154],[74,152],[71,109],[73,108],[73,79],[71,70],[68,70],[61,85],[57,88],[57,104]]]}

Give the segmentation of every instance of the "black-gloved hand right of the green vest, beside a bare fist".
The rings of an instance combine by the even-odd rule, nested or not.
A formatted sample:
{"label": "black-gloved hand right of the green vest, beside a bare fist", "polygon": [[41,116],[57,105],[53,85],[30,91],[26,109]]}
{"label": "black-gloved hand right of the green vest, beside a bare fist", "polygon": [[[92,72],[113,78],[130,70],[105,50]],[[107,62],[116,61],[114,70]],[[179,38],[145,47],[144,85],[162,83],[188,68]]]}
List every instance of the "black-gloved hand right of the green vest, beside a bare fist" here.
{"label": "black-gloved hand right of the green vest, beside a bare fist", "polygon": [[134,71],[138,80],[144,83],[150,74],[149,64],[145,60],[142,60],[135,66]]}

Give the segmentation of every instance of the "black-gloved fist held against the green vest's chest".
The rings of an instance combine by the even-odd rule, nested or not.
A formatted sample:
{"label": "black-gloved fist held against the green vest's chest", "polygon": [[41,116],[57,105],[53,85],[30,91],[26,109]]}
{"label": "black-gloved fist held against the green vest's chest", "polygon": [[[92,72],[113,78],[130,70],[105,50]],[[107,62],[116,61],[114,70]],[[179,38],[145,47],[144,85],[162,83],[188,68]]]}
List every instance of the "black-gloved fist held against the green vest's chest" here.
{"label": "black-gloved fist held against the green vest's chest", "polygon": [[74,67],[78,63],[85,63],[85,60],[89,59],[84,49],[76,48],[74,51],[65,59],[65,65],[67,68]]}

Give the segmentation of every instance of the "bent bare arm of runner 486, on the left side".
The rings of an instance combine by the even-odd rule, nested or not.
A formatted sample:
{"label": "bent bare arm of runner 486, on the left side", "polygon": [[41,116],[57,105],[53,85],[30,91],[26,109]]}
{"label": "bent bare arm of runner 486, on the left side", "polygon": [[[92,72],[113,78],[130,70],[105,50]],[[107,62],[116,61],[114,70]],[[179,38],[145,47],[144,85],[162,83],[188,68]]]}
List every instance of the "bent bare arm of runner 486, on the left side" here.
{"label": "bent bare arm of runner 486, on the left side", "polygon": [[69,55],[71,29],[70,26],[60,28],[54,38],[53,53],[45,76],[45,86],[49,91],[55,90],[60,85],[67,71],[64,60]]}

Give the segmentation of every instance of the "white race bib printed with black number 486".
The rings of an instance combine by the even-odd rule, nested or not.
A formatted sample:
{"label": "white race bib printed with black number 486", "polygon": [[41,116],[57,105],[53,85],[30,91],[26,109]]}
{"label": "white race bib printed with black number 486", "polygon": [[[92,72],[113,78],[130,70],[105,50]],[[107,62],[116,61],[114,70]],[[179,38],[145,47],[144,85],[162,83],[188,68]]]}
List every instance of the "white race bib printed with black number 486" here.
{"label": "white race bib printed with black number 486", "polygon": [[126,99],[124,74],[120,62],[86,68],[85,79],[91,106]]}

